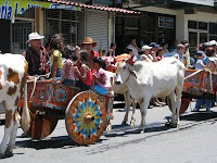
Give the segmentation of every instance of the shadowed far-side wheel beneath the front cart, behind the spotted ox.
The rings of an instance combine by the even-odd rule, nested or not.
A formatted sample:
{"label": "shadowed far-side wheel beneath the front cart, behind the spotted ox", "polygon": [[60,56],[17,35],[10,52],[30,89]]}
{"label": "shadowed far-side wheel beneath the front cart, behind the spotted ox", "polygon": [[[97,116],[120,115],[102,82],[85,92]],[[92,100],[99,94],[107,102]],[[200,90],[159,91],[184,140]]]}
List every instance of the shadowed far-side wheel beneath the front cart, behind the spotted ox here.
{"label": "shadowed far-side wheel beneath the front cart, behind the spotted ox", "polygon": [[49,136],[58,124],[58,113],[49,109],[30,109],[30,128],[27,133],[33,139],[42,139]]}

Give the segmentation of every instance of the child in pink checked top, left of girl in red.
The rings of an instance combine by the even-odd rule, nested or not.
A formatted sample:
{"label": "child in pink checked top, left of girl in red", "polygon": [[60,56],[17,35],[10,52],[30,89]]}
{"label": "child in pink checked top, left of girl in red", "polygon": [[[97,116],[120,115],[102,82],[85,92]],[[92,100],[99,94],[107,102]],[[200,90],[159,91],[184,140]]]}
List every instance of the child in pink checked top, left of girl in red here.
{"label": "child in pink checked top, left of girl in red", "polygon": [[75,85],[74,65],[78,60],[76,51],[69,46],[67,46],[64,49],[64,57],[66,58],[66,60],[63,64],[60,83],[67,86],[74,86]]}

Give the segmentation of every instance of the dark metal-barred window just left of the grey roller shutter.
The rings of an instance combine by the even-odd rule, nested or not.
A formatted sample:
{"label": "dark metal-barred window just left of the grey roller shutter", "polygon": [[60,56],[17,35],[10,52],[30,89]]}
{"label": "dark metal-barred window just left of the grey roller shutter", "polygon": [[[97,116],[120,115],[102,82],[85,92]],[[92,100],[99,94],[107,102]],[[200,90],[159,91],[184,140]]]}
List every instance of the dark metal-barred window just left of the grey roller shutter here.
{"label": "dark metal-barred window just left of the grey roller shutter", "polygon": [[84,38],[84,12],[69,10],[44,10],[46,41],[54,34],[62,34],[65,45],[76,46]]}

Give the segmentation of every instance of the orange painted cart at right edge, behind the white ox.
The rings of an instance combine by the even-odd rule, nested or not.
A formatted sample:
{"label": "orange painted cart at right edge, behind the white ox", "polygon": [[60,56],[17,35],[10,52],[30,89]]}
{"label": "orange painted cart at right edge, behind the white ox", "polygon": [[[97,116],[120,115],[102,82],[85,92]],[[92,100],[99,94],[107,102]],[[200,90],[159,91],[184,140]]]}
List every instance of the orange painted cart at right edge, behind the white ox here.
{"label": "orange painted cart at right edge, behind the white ox", "polygon": [[216,101],[217,73],[208,70],[187,70],[184,76],[180,114],[186,112],[192,99],[203,98]]}

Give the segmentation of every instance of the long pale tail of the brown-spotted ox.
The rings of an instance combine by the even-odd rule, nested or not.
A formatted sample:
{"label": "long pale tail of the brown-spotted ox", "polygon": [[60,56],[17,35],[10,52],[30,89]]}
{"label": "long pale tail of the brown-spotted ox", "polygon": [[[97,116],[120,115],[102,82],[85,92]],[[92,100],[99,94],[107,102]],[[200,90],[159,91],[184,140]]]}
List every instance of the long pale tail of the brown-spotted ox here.
{"label": "long pale tail of the brown-spotted ox", "polygon": [[22,129],[26,134],[30,127],[30,114],[27,104],[27,83],[24,86],[24,108],[22,113]]}

